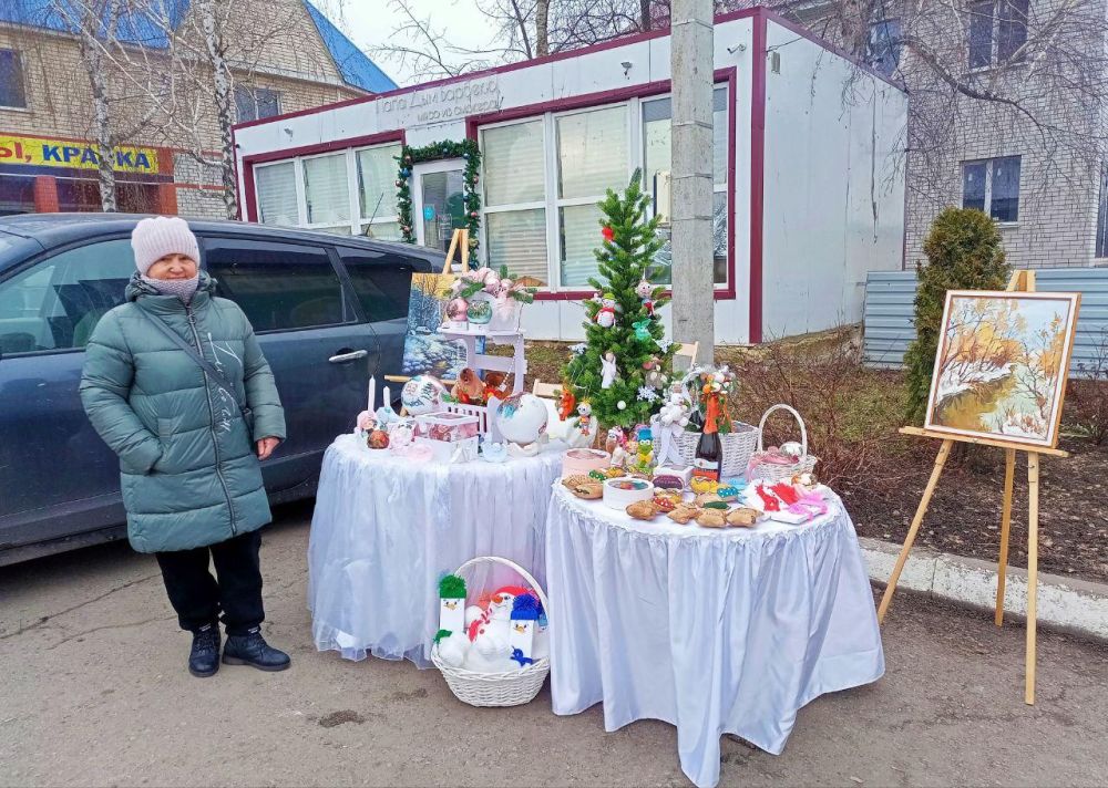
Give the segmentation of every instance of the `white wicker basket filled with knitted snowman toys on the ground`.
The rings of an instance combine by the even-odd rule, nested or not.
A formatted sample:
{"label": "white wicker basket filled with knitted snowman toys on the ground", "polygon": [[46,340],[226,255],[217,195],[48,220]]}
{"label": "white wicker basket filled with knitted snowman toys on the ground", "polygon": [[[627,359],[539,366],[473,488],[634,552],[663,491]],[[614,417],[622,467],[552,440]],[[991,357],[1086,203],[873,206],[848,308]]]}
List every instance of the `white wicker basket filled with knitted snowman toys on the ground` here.
{"label": "white wicker basket filled with knitted snowman toys on the ground", "polygon": [[[496,589],[489,604],[466,606],[464,573],[482,563],[515,571],[530,588]],[[520,564],[499,556],[466,561],[439,581],[439,632],[431,662],[454,696],[471,706],[519,706],[534,699],[550,674],[546,593]]]}

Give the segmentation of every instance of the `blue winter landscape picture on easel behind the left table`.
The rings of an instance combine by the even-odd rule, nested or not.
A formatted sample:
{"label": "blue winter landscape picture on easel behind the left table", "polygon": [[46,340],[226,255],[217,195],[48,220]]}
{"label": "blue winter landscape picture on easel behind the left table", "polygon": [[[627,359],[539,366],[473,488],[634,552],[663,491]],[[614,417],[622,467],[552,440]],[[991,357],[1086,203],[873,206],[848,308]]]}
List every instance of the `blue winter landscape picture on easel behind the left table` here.
{"label": "blue winter landscape picture on easel behind the left table", "polygon": [[439,333],[453,277],[443,273],[413,273],[408,301],[408,332],[404,335],[403,374],[431,374],[454,380],[465,366],[465,345]]}

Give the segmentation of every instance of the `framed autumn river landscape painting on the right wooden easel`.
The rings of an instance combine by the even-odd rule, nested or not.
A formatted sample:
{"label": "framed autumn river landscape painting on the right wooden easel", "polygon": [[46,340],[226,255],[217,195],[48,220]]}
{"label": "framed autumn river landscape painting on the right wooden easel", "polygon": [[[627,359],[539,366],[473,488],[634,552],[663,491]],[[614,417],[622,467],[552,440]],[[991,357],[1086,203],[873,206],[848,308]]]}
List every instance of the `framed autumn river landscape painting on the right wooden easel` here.
{"label": "framed autumn river landscape painting on the right wooden easel", "polygon": [[1053,448],[1080,293],[946,293],[924,426]]}

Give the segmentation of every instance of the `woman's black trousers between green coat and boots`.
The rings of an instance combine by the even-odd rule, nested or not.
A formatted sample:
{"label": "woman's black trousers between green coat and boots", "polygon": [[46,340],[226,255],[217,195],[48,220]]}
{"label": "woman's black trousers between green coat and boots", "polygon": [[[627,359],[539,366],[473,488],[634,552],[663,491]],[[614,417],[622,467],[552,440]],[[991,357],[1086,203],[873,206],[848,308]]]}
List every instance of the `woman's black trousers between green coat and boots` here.
{"label": "woman's black trousers between green coat and boots", "polygon": [[[181,629],[195,632],[215,624],[220,611],[228,635],[245,635],[265,620],[260,547],[261,533],[250,531],[195,550],[154,553]],[[208,556],[218,581],[208,572]]]}

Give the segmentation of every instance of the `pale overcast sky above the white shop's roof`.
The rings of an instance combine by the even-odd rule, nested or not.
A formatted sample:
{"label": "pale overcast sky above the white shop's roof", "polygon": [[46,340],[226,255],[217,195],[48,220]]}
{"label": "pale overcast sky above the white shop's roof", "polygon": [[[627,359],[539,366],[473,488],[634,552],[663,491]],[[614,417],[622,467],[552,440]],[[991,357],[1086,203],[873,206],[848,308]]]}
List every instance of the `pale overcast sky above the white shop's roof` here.
{"label": "pale overcast sky above the white shop's roof", "polygon": [[[391,0],[316,0],[316,6],[397,84],[416,82],[410,64],[401,68],[372,52],[373,46],[389,41],[403,22]],[[445,38],[452,44],[481,49],[490,43],[489,22],[476,11],[474,0],[411,0],[411,7],[419,17],[430,17],[434,30],[449,31]]]}

